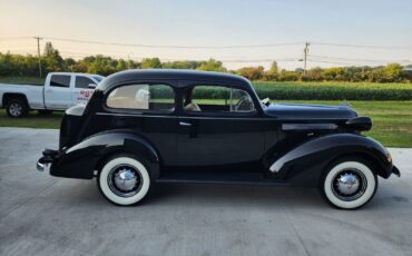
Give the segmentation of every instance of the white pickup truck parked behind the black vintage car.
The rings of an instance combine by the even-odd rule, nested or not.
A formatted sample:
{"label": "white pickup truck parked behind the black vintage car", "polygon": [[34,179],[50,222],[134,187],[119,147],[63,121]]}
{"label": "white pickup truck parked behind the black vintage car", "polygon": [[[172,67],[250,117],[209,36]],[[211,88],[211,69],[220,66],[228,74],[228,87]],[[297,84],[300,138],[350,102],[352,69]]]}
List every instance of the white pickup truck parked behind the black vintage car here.
{"label": "white pickup truck parked behind the black vintage car", "polygon": [[50,72],[45,86],[0,83],[0,107],[10,117],[23,117],[30,110],[50,114],[73,105],[87,104],[102,76],[75,72]]}

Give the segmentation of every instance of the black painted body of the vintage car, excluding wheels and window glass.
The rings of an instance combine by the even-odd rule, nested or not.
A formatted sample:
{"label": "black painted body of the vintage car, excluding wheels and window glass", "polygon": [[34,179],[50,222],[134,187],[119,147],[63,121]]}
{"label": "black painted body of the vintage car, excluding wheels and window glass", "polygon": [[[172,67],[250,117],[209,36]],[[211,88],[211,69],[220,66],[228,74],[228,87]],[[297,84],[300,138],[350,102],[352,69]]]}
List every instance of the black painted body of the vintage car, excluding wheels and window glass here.
{"label": "black painted body of the vintage car, excluding wheels and window glass", "polygon": [[[136,82],[170,85],[175,90],[174,111],[106,106],[112,89]],[[205,82],[244,89],[251,93],[256,111],[184,111],[183,90]],[[61,124],[60,157],[52,161],[50,174],[92,178],[108,157],[128,152],[149,165],[151,178],[157,181],[316,186],[328,163],[356,155],[370,159],[376,174],[388,178],[393,173],[388,150],[360,135],[369,125],[369,118],[359,118],[347,106],[276,104],[266,107],[259,104],[251,83],[234,75],[124,71],[106,78],[86,109],[67,110]],[[271,170],[273,165],[276,168]]]}

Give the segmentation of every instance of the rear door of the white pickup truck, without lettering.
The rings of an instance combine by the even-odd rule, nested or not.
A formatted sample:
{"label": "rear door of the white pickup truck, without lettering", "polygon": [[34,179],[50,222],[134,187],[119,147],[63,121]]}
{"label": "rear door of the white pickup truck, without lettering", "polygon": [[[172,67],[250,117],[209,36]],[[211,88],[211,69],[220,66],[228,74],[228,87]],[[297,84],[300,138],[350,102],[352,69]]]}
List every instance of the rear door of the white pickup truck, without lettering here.
{"label": "rear door of the white pickup truck, without lettering", "polygon": [[47,109],[67,109],[71,106],[71,75],[53,73],[45,85]]}

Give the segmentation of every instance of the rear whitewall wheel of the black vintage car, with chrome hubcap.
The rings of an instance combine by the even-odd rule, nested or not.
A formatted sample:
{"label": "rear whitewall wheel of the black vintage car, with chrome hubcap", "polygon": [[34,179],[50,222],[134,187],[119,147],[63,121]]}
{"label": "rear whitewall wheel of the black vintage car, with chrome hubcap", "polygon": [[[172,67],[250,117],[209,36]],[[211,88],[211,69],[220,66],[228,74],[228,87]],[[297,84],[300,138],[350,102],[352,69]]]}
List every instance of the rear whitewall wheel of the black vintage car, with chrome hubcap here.
{"label": "rear whitewall wheel of the black vintage car, with chrome hubcap", "polygon": [[101,168],[97,185],[106,199],[115,205],[128,206],[145,198],[150,188],[150,176],[137,158],[118,155]]}

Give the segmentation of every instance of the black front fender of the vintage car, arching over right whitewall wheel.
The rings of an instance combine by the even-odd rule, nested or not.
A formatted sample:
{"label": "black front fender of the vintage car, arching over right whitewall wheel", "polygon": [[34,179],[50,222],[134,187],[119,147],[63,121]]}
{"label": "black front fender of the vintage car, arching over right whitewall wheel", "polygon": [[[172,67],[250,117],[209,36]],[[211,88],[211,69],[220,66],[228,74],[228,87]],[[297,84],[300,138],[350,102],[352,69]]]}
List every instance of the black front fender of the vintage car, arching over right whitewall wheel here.
{"label": "black front fender of the vintage car, arching over right whitewall wheel", "polygon": [[389,178],[393,173],[389,151],[376,140],[355,134],[333,134],[310,139],[272,160],[268,170],[292,184],[316,186],[327,165],[343,156],[366,158],[373,170],[383,178]]}

